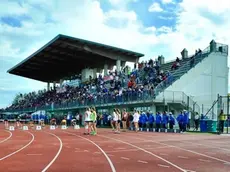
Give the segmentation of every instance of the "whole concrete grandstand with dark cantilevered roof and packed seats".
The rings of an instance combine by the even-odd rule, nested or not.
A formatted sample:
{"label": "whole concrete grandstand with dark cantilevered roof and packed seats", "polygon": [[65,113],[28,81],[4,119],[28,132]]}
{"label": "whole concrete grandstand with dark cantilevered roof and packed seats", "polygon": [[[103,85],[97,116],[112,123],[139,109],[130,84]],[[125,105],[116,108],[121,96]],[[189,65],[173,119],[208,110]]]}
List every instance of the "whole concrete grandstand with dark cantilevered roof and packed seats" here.
{"label": "whole concrete grandstand with dark cantilevered roof and packed seats", "polygon": [[[47,89],[18,95],[4,113],[45,110],[83,114],[86,107],[95,106],[105,114],[117,107],[177,115],[185,109],[190,112],[190,120],[202,114],[212,125],[217,121],[221,109],[218,95],[228,94],[227,45],[212,40],[207,48],[191,56],[183,49],[181,57],[170,62],[165,62],[163,56],[141,61],[143,56],[58,35],[8,70],[10,74],[46,82]],[[133,69],[127,62],[134,64]]]}

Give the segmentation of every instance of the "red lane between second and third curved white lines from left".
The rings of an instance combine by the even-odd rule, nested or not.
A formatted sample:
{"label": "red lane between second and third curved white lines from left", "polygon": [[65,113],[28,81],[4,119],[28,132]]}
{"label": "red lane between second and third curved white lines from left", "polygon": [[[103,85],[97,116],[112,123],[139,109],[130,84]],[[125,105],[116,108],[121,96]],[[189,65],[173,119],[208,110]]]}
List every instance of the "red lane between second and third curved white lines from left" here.
{"label": "red lane between second and third curved white lines from left", "polygon": [[30,132],[35,138],[33,143],[14,156],[2,162],[0,161],[0,171],[4,171],[7,168],[8,172],[40,172],[52,161],[58,152],[60,146],[59,140],[43,131]]}

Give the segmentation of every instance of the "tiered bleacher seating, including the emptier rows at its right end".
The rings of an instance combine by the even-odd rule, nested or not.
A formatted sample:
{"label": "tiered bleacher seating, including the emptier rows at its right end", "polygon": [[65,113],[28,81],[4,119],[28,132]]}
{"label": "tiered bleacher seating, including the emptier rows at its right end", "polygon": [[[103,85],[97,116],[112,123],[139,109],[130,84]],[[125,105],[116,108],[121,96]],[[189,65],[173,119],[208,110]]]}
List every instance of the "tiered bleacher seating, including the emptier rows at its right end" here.
{"label": "tiered bleacher seating, including the emptier rows at its right end", "polygon": [[[208,53],[200,53],[195,55],[194,65],[198,64]],[[65,86],[64,91],[60,92],[60,89],[52,89],[50,91],[40,91],[38,94],[29,93],[21,102],[13,104],[8,107],[7,110],[17,110],[25,108],[38,108],[51,106],[80,106],[80,105],[93,105],[93,104],[105,104],[105,103],[121,103],[124,101],[136,101],[137,99],[154,98],[157,94],[162,92],[165,88],[171,85],[174,81],[179,79],[182,75],[191,69],[191,57],[181,59],[180,67],[176,70],[171,70],[171,67],[175,61],[161,64],[159,71],[163,71],[162,74],[154,76],[154,82],[151,81],[151,74],[154,73],[152,68],[156,68],[154,65],[148,65],[147,62],[141,64],[141,68],[133,70],[131,75],[126,75],[123,72],[111,73],[115,75],[114,79],[107,81],[107,84],[100,76],[93,82],[80,87]],[[145,69],[146,68],[146,69]],[[157,70],[157,73],[159,73]],[[118,80],[116,79],[118,78]],[[129,81],[134,77],[134,84],[132,87],[128,87]],[[160,77],[162,80],[157,80]],[[137,80],[139,78],[139,80]],[[59,90],[59,93],[57,92]],[[32,95],[32,96],[30,96]],[[29,102],[28,102],[29,100]]]}

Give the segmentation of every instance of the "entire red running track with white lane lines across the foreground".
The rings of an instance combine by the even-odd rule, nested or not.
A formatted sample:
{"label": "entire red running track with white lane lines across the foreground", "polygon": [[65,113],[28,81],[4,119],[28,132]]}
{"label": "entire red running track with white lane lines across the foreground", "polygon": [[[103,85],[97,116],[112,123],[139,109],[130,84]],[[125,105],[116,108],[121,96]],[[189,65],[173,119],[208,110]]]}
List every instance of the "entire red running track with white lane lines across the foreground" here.
{"label": "entire red running track with white lane lines across the foreground", "polygon": [[[35,138],[33,143],[0,161],[0,171],[7,167],[11,167],[8,171],[25,172],[230,171],[230,137],[176,133],[114,134],[108,129],[99,129],[97,136],[84,136],[82,129],[70,128],[30,132]],[[0,144],[1,150],[4,149],[0,158],[31,140],[27,132],[12,133],[9,140]]]}

